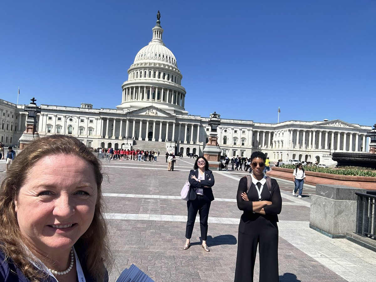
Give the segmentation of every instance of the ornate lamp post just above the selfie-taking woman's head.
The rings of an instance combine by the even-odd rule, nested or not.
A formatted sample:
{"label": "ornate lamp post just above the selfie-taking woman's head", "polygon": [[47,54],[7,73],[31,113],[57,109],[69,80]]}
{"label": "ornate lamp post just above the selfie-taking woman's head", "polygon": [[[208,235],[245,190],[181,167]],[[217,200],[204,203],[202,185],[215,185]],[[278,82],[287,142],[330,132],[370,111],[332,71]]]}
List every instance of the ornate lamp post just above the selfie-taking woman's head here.
{"label": "ornate lamp post just above the selfie-taking woman's head", "polygon": [[19,142],[20,142],[20,149],[24,149],[34,138],[39,138],[38,131],[36,131],[36,115],[40,114],[41,108],[39,108],[35,101],[36,99],[30,99],[31,103],[29,105],[25,105],[25,111],[28,113],[26,118],[26,129],[22,133]]}

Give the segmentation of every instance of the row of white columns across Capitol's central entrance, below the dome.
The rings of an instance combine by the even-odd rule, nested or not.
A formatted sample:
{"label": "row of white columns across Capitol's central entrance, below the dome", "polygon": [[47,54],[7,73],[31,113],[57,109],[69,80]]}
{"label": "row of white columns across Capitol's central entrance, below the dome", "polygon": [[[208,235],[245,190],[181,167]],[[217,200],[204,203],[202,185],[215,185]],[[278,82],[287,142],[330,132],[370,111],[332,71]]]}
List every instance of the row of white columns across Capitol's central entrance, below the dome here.
{"label": "row of white columns across Capitol's central entrance, below the dome", "polygon": [[[113,127],[112,127],[112,138],[115,139],[115,130],[116,130],[116,118],[113,118],[113,119],[110,119],[108,118],[107,119],[107,122],[106,122],[106,135],[104,136],[104,138],[109,138],[109,123],[110,123],[110,120],[113,120]],[[100,132],[103,132],[103,119],[101,120],[101,130]],[[132,138],[132,139],[135,139],[135,133],[136,133],[136,122],[139,123],[139,132],[138,132],[138,140],[148,140],[149,136],[149,121],[150,120],[146,120],[146,136],[143,136],[143,124],[144,124],[144,121],[143,119],[133,119],[132,120],[132,135],[129,135],[129,129],[130,129],[130,119],[127,118],[126,119],[126,125],[125,125],[125,137],[126,138]],[[155,133],[156,133],[156,124],[157,122],[159,123],[159,138],[158,138],[158,141],[161,142],[162,141],[162,128],[163,128],[163,123],[164,121],[156,121],[156,120],[153,120],[153,136],[152,136],[152,141],[155,141],[156,140],[156,136],[155,136]],[[172,123],[172,138],[171,140],[168,139],[168,131],[169,131],[169,128],[170,128],[170,123]],[[175,127],[176,127],[176,122],[175,121],[166,121],[165,122],[166,124],[166,133],[165,133],[165,136],[164,136],[164,141],[177,141],[177,142],[181,142],[182,140],[180,140],[180,136],[181,136],[181,131],[182,131],[182,124],[185,126],[185,134],[184,134],[184,141],[183,143],[187,144],[188,143],[188,140],[187,140],[187,133],[188,133],[188,123],[179,123],[179,133],[178,133],[178,138],[177,140],[175,140]],[[199,143],[199,136],[200,136],[200,124],[191,124],[191,138],[190,138],[190,144],[194,144],[194,141],[193,141],[193,130],[194,130],[194,126],[197,126],[197,136],[196,136],[196,144]],[[119,130],[120,134],[119,134],[119,137],[118,139],[123,139],[123,119],[120,119],[120,130]],[[102,136],[103,138],[103,136]]]}

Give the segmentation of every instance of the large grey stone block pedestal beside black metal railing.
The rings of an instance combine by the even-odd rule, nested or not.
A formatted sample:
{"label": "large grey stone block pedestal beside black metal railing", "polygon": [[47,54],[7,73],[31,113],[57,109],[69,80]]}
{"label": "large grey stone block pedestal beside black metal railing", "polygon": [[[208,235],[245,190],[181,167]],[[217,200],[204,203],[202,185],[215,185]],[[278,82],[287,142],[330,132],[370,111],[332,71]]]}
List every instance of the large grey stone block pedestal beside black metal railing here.
{"label": "large grey stone block pedestal beside black metal railing", "polygon": [[356,192],[364,190],[343,185],[316,185],[309,227],[330,238],[345,238],[346,232],[355,232]]}

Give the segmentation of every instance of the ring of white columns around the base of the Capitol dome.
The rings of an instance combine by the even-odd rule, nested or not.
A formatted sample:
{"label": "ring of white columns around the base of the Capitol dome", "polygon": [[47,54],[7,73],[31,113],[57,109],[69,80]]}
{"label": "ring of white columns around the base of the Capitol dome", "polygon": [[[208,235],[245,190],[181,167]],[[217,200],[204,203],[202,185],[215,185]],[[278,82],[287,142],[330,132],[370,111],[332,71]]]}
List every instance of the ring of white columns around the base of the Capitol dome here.
{"label": "ring of white columns around the base of the Capitol dome", "polygon": [[[158,89],[161,97],[158,99]],[[167,91],[166,91],[167,89]],[[149,91],[149,98],[147,97],[147,91]],[[129,86],[123,88],[123,102],[129,101],[156,101],[165,102],[171,105],[177,105],[184,107],[185,93],[172,90],[169,88],[154,88],[153,86]]]}

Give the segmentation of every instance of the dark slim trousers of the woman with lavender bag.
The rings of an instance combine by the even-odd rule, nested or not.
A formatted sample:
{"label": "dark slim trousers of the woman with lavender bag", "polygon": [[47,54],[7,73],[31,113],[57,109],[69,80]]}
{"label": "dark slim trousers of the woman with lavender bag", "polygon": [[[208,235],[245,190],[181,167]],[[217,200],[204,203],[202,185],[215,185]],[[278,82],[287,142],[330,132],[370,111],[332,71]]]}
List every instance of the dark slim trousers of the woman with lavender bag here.
{"label": "dark slim trousers of the woman with lavender bag", "polygon": [[193,201],[189,200],[187,202],[188,208],[188,220],[185,229],[185,238],[191,239],[192,231],[194,226],[194,221],[196,220],[197,211],[200,215],[200,230],[201,230],[201,239],[206,241],[208,235],[208,217],[209,209],[211,202],[206,201],[204,196],[197,195],[197,198]]}

